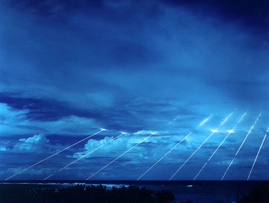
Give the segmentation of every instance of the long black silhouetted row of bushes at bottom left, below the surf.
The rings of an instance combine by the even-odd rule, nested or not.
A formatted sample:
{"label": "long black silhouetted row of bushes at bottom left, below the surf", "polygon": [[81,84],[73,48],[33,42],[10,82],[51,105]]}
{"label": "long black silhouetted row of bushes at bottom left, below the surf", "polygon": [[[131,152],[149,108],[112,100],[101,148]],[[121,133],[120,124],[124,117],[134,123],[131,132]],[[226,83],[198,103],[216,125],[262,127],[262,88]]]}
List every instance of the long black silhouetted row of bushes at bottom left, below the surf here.
{"label": "long black silhouetted row of bushes at bottom left, below the surf", "polygon": [[19,189],[7,190],[0,197],[2,203],[171,203],[175,198],[170,190],[154,192],[145,187],[139,188],[131,185],[128,188],[106,186],[79,185],[55,190],[55,188],[43,189]]}

